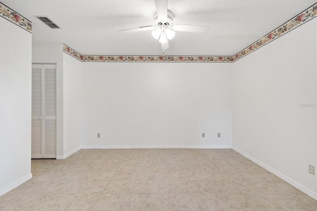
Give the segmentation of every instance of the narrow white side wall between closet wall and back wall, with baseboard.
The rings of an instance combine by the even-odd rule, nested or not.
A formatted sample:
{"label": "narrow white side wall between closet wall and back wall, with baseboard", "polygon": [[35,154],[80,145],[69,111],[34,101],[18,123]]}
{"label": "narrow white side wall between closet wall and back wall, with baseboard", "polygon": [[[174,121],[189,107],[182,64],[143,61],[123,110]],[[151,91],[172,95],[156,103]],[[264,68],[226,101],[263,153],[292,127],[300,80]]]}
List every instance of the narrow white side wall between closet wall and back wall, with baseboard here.
{"label": "narrow white side wall between closet wall and back wall, with baseboard", "polygon": [[82,62],[63,53],[63,158],[78,151],[83,145],[81,96]]}

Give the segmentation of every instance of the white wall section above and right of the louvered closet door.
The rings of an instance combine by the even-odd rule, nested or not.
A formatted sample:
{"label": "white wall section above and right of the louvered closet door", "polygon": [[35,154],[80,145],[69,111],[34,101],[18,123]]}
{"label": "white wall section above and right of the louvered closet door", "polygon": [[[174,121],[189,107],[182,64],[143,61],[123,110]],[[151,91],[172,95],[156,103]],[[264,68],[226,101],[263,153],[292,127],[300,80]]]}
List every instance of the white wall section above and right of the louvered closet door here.
{"label": "white wall section above and right of the louvered closet door", "polygon": [[63,157],[63,44],[32,44],[32,63],[56,63],[56,155]]}

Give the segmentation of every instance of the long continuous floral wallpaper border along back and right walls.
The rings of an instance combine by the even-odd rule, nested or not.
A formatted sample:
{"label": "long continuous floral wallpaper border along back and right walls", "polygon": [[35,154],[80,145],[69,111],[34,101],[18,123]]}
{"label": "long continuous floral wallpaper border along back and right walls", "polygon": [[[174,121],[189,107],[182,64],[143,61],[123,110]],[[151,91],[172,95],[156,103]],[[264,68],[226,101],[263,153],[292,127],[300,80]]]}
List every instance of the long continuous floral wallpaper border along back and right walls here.
{"label": "long continuous floral wallpaper border along back and right walls", "polygon": [[63,51],[80,61],[95,62],[234,62],[317,16],[317,3],[233,56],[81,55],[63,45]]}

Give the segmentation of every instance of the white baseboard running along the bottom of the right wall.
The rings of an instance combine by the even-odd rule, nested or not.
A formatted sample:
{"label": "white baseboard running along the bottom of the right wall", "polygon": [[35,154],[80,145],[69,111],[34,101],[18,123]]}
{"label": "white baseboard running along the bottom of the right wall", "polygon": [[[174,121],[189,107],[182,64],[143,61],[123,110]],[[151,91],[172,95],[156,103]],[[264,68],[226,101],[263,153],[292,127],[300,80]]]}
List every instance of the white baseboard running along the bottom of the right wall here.
{"label": "white baseboard running along the bottom of the right wall", "polygon": [[279,178],[281,178],[282,180],[284,180],[285,182],[293,185],[295,188],[303,191],[305,194],[309,195],[310,197],[314,198],[317,200],[317,193],[315,193],[314,191],[312,191],[311,189],[308,189],[307,187],[305,187],[304,185],[296,182],[295,180],[289,178],[288,176],[280,173],[279,171],[277,171],[276,169],[268,166],[267,164],[261,162],[260,160],[258,160],[257,158],[254,158],[252,156],[250,156],[249,154],[239,150],[238,148],[232,147],[232,149],[238,153],[240,153],[241,155],[243,155],[246,158],[249,158],[250,160],[252,160],[253,162],[257,163],[258,165],[260,165],[261,167],[265,168],[266,170],[268,170],[269,172],[271,172],[272,174],[275,174],[276,176],[278,176]]}

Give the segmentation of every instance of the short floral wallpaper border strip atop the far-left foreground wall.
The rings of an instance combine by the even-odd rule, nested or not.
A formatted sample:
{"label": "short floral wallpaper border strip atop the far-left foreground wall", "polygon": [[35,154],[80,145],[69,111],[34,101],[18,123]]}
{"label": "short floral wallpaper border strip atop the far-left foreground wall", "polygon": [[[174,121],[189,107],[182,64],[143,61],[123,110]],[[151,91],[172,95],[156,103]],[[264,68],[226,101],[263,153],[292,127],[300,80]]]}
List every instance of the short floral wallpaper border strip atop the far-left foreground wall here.
{"label": "short floral wallpaper border strip atop the far-left foreground wall", "polygon": [[32,22],[0,2],[0,16],[32,33]]}

